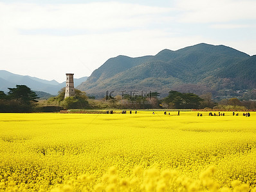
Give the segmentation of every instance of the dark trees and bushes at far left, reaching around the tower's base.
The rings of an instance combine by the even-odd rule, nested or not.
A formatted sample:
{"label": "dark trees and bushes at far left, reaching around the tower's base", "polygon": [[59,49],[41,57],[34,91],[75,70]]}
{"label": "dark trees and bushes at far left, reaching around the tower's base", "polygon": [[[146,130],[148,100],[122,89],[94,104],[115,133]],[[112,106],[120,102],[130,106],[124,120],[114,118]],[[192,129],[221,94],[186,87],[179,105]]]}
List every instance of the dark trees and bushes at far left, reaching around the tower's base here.
{"label": "dark trees and bushes at far left, reaching around the tower's base", "polygon": [[64,99],[65,88],[59,95],[51,97],[46,104],[39,105],[37,94],[26,85],[16,85],[8,88],[10,91],[0,91],[0,112],[6,113],[30,113],[30,112],[54,112],[62,109],[91,109],[85,92],[75,89],[75,96]]}

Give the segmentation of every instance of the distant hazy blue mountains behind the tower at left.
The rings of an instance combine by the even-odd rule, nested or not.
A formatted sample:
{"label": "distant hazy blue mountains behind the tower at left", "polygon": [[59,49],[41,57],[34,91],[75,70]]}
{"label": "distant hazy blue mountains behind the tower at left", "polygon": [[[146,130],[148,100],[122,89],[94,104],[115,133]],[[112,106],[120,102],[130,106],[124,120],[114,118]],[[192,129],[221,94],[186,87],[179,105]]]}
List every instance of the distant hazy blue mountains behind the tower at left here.
{"label": "distant hazy blue mountains behind the tower at left", "polygon": [[[64,79],[66,79],[64,74]],[[81,77],[79,79],[74,79],[74,84],[78,85],[84,81],[86,81],[87,77]],[[48,81],[44,79],[39,79],[37,77],[30,76],[21,76],[17,74],[13,74],[6,70],[0,70],[0,90],[3,92],[8,92],[8,88],[14,88],[16,84],[25,84],[33,91],[40,93],[46,92],[51,95],[57,95],[59,90],[66,86],[66,81],[63,83],[58,83],[55,80]],[[41,93],[42,94],[42,93]]]}

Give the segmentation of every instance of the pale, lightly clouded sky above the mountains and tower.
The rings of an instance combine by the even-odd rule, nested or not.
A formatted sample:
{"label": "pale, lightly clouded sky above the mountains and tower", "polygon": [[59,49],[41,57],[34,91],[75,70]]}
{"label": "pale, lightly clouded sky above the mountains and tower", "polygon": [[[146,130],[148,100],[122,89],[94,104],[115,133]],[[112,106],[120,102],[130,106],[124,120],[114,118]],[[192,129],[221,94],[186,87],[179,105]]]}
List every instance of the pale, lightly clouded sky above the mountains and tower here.
{"label": "pale, lightly clouded sky above the mountains and tower", "polygon": [[118,55],[200,43],[256,54],[255,0],[0,0],[0,70],[59,83]]}

